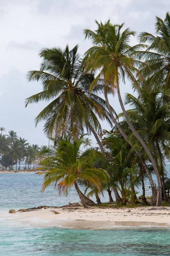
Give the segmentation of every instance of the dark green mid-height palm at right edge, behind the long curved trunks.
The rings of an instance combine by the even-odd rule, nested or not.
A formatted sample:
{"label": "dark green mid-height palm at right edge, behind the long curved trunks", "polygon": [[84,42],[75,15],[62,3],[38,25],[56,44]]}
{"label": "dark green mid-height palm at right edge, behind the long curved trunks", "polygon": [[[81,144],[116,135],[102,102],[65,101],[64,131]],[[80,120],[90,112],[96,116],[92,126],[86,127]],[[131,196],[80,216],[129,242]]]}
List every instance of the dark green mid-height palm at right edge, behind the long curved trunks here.
{"label": "dark green mid-height palm at right edge, behind the long curved trunks", "polygon": [[141,90],[142,97],[137,99],[131,94],[126,96],[126,104],[130,104],[133,109],[127,111],[130,120],[138,127],[139,133],[147,141],[147,146],[152,152],[164,192],[164,201],[167,201],[166,188],[164,183],[166,157],[170,159],[170,105],[164,103],[160,88]]}

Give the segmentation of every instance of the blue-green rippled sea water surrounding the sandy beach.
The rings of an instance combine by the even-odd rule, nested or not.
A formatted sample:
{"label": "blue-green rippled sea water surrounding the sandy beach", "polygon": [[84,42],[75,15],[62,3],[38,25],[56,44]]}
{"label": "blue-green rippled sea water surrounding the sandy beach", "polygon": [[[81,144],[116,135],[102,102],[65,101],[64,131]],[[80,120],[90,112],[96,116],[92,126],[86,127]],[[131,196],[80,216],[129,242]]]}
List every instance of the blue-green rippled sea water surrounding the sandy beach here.
{"label": "blue-green rippled sea water surrounding the sandy beach", "polygon": [[41,184],[42,176],[32,173],[0,174],[0,256],[170,256],[169,227],[73,230],[11,220],[9,209],[79,200],[74,189],[65,197],[52,186],[40,192]]}

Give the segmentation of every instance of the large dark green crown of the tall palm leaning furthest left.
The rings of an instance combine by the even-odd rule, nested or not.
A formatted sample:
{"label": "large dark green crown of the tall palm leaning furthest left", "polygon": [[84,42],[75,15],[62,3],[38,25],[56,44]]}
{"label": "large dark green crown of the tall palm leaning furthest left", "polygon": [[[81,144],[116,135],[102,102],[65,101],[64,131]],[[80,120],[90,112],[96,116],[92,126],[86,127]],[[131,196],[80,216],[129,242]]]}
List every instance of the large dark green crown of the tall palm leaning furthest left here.
{"label": "large dark green crown of the tall palm leaning furthest left", "polygon": [[[82,60],[77,52],[78,45],[69,50],[60,48],[42,49],[41,68],[28,72],[28,81],[41,81],[43,90],[26,99],[26,107],[30,103],[50,102],[36,118],[36,125],[45,120],[44,131],[48,137],[58,137],[69,131],[74,138],[79,137],[87,128],[94,134],[97,143],[104,153],[99,140],[101,125],[99,119],[107,119],[105,101],[97,96],[101,86],[89,93],[94,80],[93,73],[84,74]],[[98,118],[97,118],[98,116]]]}

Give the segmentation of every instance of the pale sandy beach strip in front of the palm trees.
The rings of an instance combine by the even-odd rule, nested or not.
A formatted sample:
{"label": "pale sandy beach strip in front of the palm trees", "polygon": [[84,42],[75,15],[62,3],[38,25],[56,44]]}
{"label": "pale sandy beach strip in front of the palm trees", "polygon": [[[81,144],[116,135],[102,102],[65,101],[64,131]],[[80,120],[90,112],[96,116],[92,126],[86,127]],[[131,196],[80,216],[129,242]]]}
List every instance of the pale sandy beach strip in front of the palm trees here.
{"label": "pale sandy beach strip in front of the palm trees", "polygon": [[[60,214],[54,214],[55,210]],[[18,221],[52,224],[68,228],[96,229],[114,226],[170,226],[170,207],[47,208],[11,214]]]}

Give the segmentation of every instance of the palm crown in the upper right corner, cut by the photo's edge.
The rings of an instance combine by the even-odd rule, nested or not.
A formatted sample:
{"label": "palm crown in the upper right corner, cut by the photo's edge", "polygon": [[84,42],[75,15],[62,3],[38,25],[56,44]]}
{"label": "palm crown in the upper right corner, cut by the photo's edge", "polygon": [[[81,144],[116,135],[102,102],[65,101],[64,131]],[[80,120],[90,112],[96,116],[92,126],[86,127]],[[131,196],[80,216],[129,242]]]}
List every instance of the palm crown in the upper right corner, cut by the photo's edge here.
{"label": "palm crown in the upper right corner, cut by the photo's edge", "polygon": [[[148,78],[148,85],[154,87],[159,84],[162,93],[170,97],[170,13],[165,19],[156,17],[156,35],[148,32],[139,34],[141,42],[148,42],[149,47],[144,52],[139,52],[139,57],[144,59],[147,67],[142,70],[143,76]],[[149,68],[148,68],[149,67]]]}

